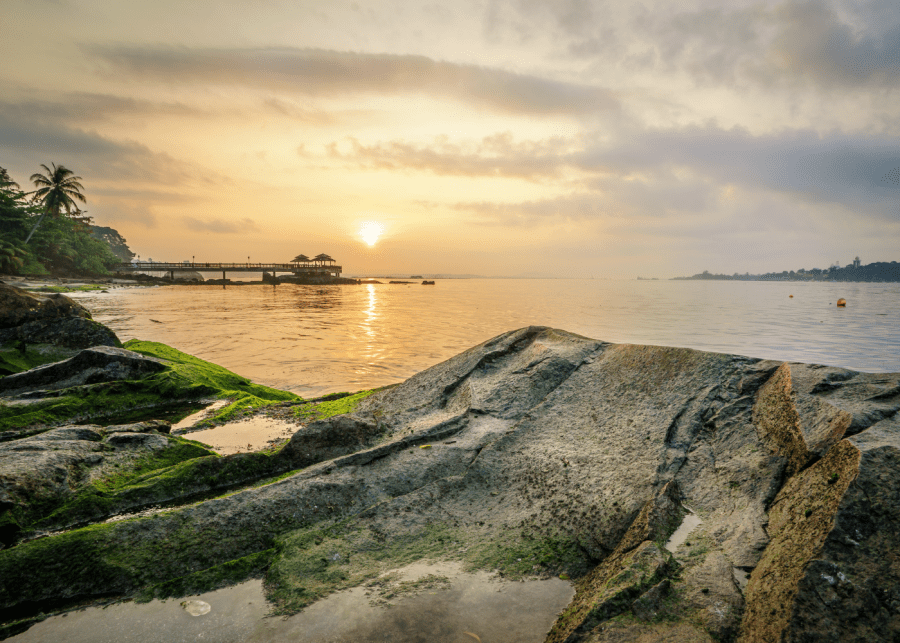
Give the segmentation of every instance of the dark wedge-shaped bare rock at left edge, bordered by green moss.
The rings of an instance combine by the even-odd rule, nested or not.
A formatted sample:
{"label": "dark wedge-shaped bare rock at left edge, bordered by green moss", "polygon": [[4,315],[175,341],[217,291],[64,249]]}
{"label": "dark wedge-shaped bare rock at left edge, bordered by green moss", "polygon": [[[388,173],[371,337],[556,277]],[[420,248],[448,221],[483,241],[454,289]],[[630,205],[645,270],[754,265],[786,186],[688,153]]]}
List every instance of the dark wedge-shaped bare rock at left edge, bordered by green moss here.
{"label": "dark wedge-shaped bare rock at left edge, bordered by green moss", "polygon": [[0,379],[0,395],[59,390],[84,384],[137,379],[166,369],[162,360],[124,348],[95,346],[61,362],[44,364]]}

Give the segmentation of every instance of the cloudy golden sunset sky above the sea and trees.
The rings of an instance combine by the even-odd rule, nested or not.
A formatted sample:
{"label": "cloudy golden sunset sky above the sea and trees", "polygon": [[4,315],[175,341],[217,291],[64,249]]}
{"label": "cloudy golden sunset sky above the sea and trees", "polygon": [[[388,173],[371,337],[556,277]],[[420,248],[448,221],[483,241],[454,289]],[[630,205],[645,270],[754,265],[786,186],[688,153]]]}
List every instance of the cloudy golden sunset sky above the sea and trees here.
{"label": "cloudy golden sunset sky above the sea and trees", "polygon": [[0,0],[0,167],[142,259],[900,260],[896,0]]}

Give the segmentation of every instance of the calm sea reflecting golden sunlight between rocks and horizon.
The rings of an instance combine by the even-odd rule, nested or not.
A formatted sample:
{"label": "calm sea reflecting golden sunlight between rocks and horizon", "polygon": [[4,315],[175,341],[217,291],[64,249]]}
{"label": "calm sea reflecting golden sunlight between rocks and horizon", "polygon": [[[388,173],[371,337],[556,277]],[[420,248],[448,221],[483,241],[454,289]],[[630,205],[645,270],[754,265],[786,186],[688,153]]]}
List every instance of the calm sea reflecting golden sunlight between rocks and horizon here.
{"label": "calm sea reflecting golden sunlight between rocks and horizon", "polygon": [[[845,309],[835,306],[841,297]],[[123,341],[164,342],[307,397],[398,382],[528,325],[611,342],[900,371],[900,284],[460,279],[167,286],[78,299]]]}

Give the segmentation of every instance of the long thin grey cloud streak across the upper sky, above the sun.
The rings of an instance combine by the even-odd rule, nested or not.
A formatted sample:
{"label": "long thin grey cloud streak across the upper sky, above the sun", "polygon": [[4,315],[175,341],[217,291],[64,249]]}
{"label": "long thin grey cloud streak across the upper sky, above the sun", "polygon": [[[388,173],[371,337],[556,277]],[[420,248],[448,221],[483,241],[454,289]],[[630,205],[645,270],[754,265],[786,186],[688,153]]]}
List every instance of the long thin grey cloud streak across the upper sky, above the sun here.
{"label": "long thin grey cloud streak across the upper sky, above the sun", "polygon": [[608,89],[426,56],[299,48],[92,47],[111,73],[133,79],[226,84],[320,97],[420,94],[520,114],[617,110]]}

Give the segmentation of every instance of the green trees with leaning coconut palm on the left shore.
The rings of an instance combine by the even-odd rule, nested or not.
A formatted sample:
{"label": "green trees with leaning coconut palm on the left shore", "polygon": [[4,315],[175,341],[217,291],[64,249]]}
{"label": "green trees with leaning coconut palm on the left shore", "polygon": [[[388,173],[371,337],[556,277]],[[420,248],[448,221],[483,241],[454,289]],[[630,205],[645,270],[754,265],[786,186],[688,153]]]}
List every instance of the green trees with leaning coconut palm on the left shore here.
{"label": "green trees with leaning coconut palm on the left shore", "polygon": [[15,275],[106,275],[134,254],[112,228],[91,225],[81,177],[65,167],[41,165],[25,192],[0,167],[0,272]]}

